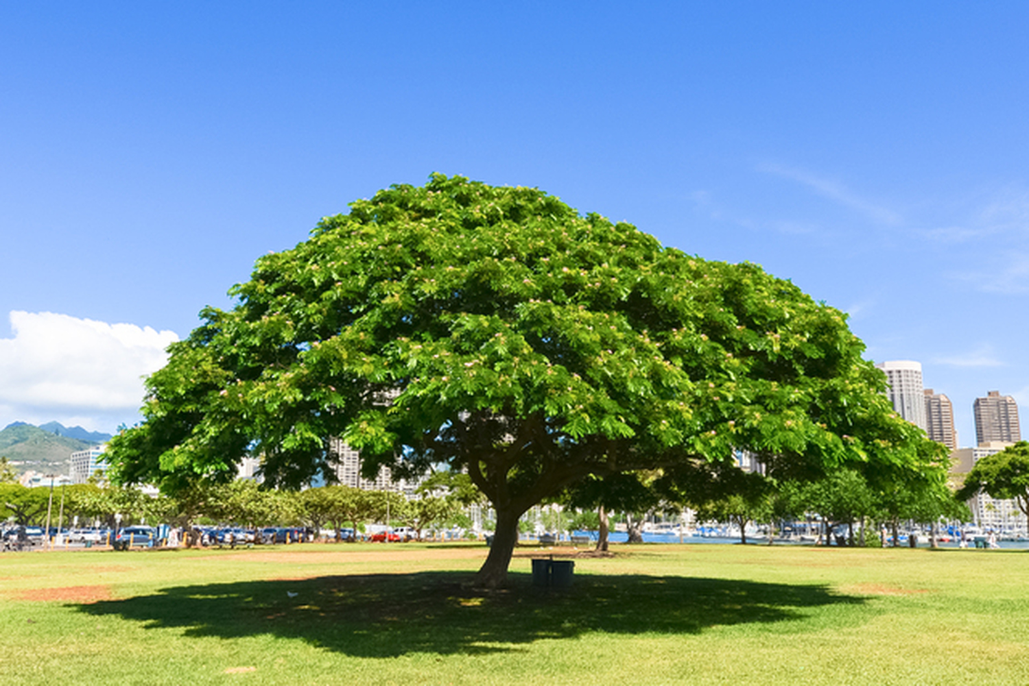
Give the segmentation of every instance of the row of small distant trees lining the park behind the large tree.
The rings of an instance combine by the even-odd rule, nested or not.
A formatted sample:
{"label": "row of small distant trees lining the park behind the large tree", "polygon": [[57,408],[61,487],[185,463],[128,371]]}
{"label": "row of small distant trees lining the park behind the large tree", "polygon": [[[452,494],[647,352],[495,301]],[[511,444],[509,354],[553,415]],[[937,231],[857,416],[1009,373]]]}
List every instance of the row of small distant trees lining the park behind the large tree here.
{"label": "row of small distant trees lining the park behind the large tree", "polygon": [[[782,522],[814,518],[824,540],[830,532],[847,527],[847,542],[864,545],[878,540],[886,528],[897,540],[901,522],[932,526],[939,520],[971,518],[964,500],[977,492],[1013,498],[1023,512],[1029,498],[1029,443],[1019,443],[982,460],[958,494],[941,479],[872,483],[860,472],[840,469],[815,480],[777,481],[736,467],[707,469],[682,490],[661,472],[623,474],[589,479],[568,490],[557,503],[566,513],[543,516],[545,529],[600,530],[599,547],[606,547],[609,519],[626,523],[630,542],[641,539],[643,523],[659,512],[679,512],[689,507],[701,521],[731,522],[746,541],[750,522],[767,525],[770,534]],[[141,490],[91,479],[90,483],[59,488],[50,501],[49,486],[25,488],[14,482],[14,472],[0,459],[0,504],[6,517],[21,525],[43,525],[47,508],[51,521],[99,521],[114,527],[141,521],[189,528],[202,522],[232,522],[246,527],[305,526],[316,530],[360,529],[368,521],[410,527],[419,537],[426,530],[468,527],[467,509],[485,502],[464,474],[437,472],[420,488],[420,498],[409,501],[397,493],[362,491],[327,485],[301,492],[262,490],[250,480],[198,483],[174,496],[151,497]],[[613,513],[613,514],[611,514]],[[1029,513],[1027,513],[1029,514]],[[526,518],[522,529],[536,522]],[[875,536],[864,536],[865,531]],[[856,535],[855,535],[856,534]],[[771,536],[770,536],[771,540]]]}

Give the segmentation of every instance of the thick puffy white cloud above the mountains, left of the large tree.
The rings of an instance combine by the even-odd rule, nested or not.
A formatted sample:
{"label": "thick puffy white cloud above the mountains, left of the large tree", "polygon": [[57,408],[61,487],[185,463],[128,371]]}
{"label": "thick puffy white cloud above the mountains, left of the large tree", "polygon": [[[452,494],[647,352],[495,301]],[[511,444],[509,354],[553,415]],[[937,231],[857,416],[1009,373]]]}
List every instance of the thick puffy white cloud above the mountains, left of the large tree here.
{"label": "thick puffy white cloud above the mountains, left of the large tree", "polygon": [[10,325],[13,337],[0,338],[0,406],[30,422],[135,416],[142,376],[178,340],[173,331],[48,312],[11,312]]}

